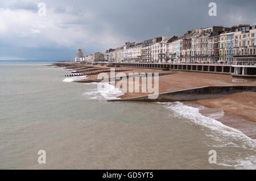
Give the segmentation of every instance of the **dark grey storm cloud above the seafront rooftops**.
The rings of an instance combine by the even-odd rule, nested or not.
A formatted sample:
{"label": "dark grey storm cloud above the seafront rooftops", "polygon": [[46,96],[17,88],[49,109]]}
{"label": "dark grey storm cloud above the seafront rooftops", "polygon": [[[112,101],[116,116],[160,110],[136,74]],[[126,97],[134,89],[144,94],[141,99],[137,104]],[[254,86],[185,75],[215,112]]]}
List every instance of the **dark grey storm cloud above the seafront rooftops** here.
{"label": "dark grey storm cloud above the seafront rooftops", "polygon": [[[256,1],[213,1],[217,3],[217,16],[209,16],[212,1],[108,1],[89,4],[98,20],[108,23],[112,31],[141,39],[151,36],[181,35],[196,27],[213,25],[233,26],[255,23]],[[241,22],[241,17],[245,22]],[[232,17],[233,16],[233,17]]]}

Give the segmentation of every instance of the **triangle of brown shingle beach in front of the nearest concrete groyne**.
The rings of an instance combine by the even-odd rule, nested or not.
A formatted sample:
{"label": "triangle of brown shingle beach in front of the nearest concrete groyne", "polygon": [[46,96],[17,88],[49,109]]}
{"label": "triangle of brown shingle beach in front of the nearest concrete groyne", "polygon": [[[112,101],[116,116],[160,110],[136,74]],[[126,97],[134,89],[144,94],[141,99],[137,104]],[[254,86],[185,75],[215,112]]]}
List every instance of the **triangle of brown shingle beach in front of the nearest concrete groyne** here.
{"label": "triangle of brown shingle beach in front of the nearest concrete groyne", "polygon": [[222,98],[196,100],[187,103],[206,107],[208,110],[200,110],[205,116],[214,113],[214,110],[224,111],[224,116],[216,120],[228,127],[238,129],[250,138],[256,139],[255,92],[241,92],[230,94]]}

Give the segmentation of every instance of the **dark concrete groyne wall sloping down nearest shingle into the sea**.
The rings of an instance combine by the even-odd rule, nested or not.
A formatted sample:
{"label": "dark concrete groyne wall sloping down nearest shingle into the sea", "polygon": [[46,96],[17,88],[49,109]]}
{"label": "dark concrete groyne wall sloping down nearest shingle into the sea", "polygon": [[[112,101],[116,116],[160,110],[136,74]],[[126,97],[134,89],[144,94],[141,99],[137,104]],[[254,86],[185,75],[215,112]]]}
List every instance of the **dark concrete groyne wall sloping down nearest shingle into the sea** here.
{"label": "dark concrete groyne wall sloping down nearest shingle into the sea", "polygon": [[175,102],[188,100],[203,100],[220,98],[238,92],[256,92],[256,86],[205,86],[194,89],[185,89],[173,92],[164,92],[158,95],[156,99],[150,99],[148,96],[139,96],[129,99],[115,99],[109,101],[147,101],[147,102]]}

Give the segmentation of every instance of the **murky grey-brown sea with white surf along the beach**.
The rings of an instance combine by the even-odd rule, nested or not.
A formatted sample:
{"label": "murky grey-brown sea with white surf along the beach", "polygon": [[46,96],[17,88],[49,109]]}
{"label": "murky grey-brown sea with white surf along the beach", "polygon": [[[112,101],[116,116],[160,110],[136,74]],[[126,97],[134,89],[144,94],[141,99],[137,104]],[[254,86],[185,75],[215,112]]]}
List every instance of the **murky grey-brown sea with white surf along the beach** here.
{"label": "murky grey-brown sea with white surf along the beach", "polygon": [[0,61],[0,169],[256,169],[256,141],[215,120],[223,112],[108,102],[123,92],[52,62]]}

